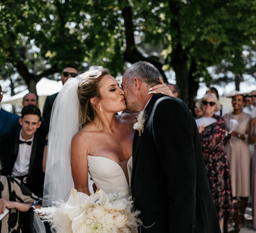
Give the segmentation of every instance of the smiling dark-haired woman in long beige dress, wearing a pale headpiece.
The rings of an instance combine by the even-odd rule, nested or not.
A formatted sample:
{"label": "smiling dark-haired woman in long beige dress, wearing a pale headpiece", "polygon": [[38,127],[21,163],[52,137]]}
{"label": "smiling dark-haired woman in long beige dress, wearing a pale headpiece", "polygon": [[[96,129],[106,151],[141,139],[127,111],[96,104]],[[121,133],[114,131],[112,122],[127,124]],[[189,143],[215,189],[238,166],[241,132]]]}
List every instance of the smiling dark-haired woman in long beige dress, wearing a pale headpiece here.
{"label": "smiling dark-haired woman in long beige dress, wearing a pale headpiece", "polygon": [[[248,144],[248,134],[251,116],[242,112],[244,105],[242,93],[235,91],[229,97],[232,98],[234,110],[232,113],[224,116],[227,129],[231,136],[225,144],[225,151],[230,161],[233,199],[239,198],[242,200],[239,224],[243,226],[245,208],[248,197],[250,196],[251,152]],[[233,119],[237,120],[238,125],[232,130],[230,122]]]}

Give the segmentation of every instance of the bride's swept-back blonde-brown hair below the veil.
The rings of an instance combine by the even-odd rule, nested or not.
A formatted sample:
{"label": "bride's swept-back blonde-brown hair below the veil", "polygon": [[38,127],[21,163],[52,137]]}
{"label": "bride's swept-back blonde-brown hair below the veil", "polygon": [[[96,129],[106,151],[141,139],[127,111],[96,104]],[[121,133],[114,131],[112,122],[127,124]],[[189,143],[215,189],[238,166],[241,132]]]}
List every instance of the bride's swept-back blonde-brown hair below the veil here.
{"label": "bride's swept-back blonde-brown hair below the veil", "polygon": [[108,69],[96,68],[85,72],[78,86],[80,127],[91,123],[97,113],[90,102],[92,97],[100,100],[99,83],[104,75],[110,75]]}

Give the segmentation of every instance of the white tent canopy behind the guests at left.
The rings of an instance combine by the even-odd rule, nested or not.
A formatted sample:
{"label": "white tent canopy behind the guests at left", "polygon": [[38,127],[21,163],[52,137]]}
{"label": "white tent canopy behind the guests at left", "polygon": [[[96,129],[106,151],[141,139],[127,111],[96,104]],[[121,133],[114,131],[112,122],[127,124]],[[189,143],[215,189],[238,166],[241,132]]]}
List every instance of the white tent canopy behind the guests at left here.
{"label": "white tent canopy behind the guests at left", "polygon": [[[47,78],[42,78],[37,84],[36,84],[36,92],[38,95],[38,107],[40,110],[43,110],[44,102],[47,96],[50,96],[56,92],[59,92],[62,88],[62,82],[61,81],[54,81],[49,80]],[[23,92],[20,92],[17,95],[14,96],[6,96],[3,95],[3,100],[1,101],[1,104],[11,104],[22,107],[22,99],[23,97],[28,93],[28,90],[25,90]]]}

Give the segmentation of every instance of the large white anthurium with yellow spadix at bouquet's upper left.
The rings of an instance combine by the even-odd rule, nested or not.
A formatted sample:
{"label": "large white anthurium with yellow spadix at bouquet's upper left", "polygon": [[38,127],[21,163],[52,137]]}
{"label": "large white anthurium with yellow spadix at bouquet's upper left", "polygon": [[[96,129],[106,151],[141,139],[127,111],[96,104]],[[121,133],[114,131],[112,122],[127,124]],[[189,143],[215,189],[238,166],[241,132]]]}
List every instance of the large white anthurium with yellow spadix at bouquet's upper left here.
{"label": "large white anthurium with yellow spadix at bouquet's upper left", "polygon": [[72,194],[66,204],[70,220],[78,217],[90,205],[89,196],[87,194],[76,192],[75,189],[72,190]]}

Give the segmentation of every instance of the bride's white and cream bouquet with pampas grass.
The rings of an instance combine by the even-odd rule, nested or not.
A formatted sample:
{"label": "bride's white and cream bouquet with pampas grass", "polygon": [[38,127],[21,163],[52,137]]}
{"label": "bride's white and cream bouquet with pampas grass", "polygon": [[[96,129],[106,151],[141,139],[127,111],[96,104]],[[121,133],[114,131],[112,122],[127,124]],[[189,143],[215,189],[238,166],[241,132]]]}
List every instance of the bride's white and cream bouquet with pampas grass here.
{"label": "bride's white and cream bouquet with pampas grass", "polygon": [[106,194],[102,190],[88,196],[72,189],[67,203],[59,202],[37,212],[56,232],[128,233],[137,228],[140,220],[138,211],[131,212],[132,201],[124,196],[123,192]]}

